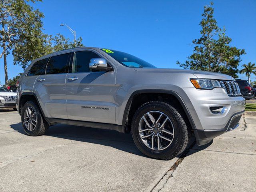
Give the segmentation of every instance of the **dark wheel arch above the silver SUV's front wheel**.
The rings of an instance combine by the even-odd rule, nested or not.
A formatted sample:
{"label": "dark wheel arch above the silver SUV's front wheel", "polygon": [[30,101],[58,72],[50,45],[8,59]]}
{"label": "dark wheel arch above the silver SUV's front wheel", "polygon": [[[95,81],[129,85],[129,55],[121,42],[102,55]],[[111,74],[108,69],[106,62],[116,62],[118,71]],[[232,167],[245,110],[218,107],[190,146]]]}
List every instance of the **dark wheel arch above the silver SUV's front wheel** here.
{"label": "dark wheel arch above the silver SUV's front wheel", "polygon": [[[133,104],[134,104],[134,100],[138,97],[138,96],[149,96],[148,94],[154,95],[153,98],[155,98],[156,96],[169,96],[170,98],[175,98],[178,101],[178,104],[180,104],[180,106],[182,107],[182,110],[184,111],[186,118],[188,119],[188,122],[190,123],[191,128],[194,130],[196,129],[196,126],[194,124],[194,121],[192,119],[192,116],[190,115],[190,112],[188,111],[188,108],[185,104],[185,102],[182,100],[181,96],[174,91],[171,90],[136,90],[134,91],[130,98],[128,99],[128,102],[126,104],[125,110],[124,110],[124,116],[122,119],[122,125],[124,127],[124,132],[128,133],[130,132],[130,121],[131,121],[131,113],[134,112],[134,108],[132,108]],[[150,100],[150,96],[149,96],[149,100]],[[166,100],[165,100],[166,101]],[[136,107],[135,107],[136,108]],[[131,113],[130,113],[131,112]]]}

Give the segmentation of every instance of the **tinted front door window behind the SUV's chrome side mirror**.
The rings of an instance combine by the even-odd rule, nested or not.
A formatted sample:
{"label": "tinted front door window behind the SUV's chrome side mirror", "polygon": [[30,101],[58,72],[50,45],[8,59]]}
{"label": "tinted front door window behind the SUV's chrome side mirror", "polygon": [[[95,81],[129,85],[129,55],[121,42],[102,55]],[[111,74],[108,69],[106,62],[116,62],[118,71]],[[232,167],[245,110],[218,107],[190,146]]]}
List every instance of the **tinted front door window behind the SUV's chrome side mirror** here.
{"label": "tinted front door window behind the SUV's chrome side mirror", "polygon": [[79,51],[74,54],[73,73],[91,72],[89,68],[90,59],[101,58],[92,51]]}

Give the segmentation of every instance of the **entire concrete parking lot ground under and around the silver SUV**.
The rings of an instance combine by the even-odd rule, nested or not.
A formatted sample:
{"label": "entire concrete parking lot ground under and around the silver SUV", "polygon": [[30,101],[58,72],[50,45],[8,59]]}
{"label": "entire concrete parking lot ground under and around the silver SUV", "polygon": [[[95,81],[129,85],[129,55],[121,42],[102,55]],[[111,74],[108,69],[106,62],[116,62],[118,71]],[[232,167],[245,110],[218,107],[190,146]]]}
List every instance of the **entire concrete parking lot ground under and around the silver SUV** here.
{"label": "entire concrete parking lot ground under and around the silver SUV", "polygon": [[58,124],[44,136],[23,131],[0,110],[0,191],[255,191],[256,116],[184,158],[144,156],[130,134]]}

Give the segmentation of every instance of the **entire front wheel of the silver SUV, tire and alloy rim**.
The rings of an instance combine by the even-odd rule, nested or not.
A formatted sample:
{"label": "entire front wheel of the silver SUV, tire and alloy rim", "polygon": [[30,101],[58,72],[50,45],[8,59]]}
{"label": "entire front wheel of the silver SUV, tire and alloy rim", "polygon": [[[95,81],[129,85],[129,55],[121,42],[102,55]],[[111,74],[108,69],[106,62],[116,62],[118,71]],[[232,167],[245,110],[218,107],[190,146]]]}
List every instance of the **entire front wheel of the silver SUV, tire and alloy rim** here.
{"label": "entire front wheel of the silver SUV, tire and alloy rim", "polygon": [[132,138],[147,156],[170,160],[188,145],[189,132],[178,108],[160,101],[142,104],[132,120]]}

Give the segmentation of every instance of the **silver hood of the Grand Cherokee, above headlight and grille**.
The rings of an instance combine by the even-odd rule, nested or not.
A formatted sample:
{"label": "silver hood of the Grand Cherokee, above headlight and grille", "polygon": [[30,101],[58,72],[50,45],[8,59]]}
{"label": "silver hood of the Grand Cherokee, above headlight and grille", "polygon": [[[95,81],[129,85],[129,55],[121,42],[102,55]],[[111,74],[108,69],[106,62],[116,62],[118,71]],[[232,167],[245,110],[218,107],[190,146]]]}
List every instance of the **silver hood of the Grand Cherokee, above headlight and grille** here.
{"label": "silver hood of the Grand Cherokee, above headlight and grille", "polygon": [[199,70],[186,70],[186,69],[169,69],[169,68],[134,68],[138,72],[152,72],[152,73],[186,73],[193,74],[197,78],[207,78],[207,79],[218,79],[218,80],[233,80],[232,76],[225,75],[222,73],[214,73]]}

